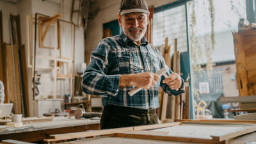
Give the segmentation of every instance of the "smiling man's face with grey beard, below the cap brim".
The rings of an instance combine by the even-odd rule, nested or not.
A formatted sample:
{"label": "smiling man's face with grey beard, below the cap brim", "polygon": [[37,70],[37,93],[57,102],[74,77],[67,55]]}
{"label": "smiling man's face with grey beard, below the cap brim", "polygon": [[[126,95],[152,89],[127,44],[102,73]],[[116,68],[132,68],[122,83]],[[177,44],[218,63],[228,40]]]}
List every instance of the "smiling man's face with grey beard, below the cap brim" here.
{"label": "smiling man's face with grey beard, below the cap brim", "polygon": [[127,13],[118,15],[119,26],[132,41],[138,42],[147,31],[148,15],[145,13]]}

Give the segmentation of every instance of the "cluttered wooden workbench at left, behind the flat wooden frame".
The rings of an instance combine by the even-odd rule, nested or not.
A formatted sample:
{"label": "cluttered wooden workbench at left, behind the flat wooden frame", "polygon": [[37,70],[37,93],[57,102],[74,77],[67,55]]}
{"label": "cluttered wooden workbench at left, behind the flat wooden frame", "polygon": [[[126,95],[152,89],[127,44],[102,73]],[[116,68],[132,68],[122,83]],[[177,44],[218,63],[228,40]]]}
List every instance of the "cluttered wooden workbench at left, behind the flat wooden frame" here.
{"label": "cluttered wooden workbench at left, behind the flat wooden frame", "polygon": [[20,128],[0,131],[0,141],[12,139],[36,142],[49,138],[51,134],[82,132],[97,129],[100,129],[100,120],[90,120],[85,118],[76,120],[74,117],[54,117],[51,122],[24,124],[23,127]]}

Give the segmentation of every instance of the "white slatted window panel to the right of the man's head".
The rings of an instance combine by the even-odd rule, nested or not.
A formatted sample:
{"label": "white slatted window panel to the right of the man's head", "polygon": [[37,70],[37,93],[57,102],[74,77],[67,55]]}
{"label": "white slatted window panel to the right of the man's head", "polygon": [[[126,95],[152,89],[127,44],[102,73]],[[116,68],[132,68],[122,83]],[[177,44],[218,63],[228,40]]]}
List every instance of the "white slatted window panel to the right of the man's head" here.
{"label": "white slatted window panel to the right of the man's head", "polygon": [[164,38],[169,38],[169,44],[178,39],[178,51],[187,51],[186,11],[185,6],[154,14],[153,44],[163,45]]}

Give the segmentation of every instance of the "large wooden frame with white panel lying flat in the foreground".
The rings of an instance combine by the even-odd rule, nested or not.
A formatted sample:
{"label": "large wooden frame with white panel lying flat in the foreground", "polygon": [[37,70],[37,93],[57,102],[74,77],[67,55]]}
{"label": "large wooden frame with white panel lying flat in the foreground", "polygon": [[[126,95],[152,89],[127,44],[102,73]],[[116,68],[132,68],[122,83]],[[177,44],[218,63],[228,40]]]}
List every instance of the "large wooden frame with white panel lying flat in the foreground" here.
{"label": "large wooden frame with white panel lying flat in the foreground", "polygon": [[[164,140],[169,142],[180,141],[184,143],[226,143],[238,136],[242,136],[250,132],[256,132],[256,125],[236,124],[238,122],[242,121],[208,120],[200,122],[200,120],[187,120],[185,122],[185,120],[183,120],[183,124],[175,122],[158,125],[143,125],[138,127],[124,127],[119,129],[106,129],[100,131],[55,134],[51,135],[52,139],[47,139],[45,142],[50,143],[52,141],[86,137],[89,139],[79,140],[77,143],[81,144],[82,141],[84,141],[84,143],[90,143],[90,140],[95,140],[95,138],[90,137],[98,136],[97,139],[99,139],[99,141],[104,140],[104,138],[125,138],[125,140],[129,140],[129,138],[136,138],[140,140]],[[256,121],[251,123],[256,123]],[[178,132],[173,131],[175,129]],[[186,131],[189,129],[191,129],[191,131]],[[196,134],[196,130],[199,132],[198,134]],[[193,132],[195,132],[195,134]],[[102,140],[100,140],[100,138],[102,138]],[[76,141],[70,141],[69,143],[76,144]]]}

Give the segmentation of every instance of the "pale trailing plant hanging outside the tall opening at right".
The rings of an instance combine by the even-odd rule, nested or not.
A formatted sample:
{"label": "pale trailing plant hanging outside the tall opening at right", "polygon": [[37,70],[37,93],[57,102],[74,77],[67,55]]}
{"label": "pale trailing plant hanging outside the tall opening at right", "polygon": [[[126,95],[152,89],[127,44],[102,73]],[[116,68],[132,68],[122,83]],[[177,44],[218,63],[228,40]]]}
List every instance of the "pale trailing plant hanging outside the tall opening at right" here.
{"label": "pale trailing plant hanging outside the tall opening at right", "polygon": [[[204,49],[202,49],[201,45],[199,44],[199,36],[196,36],[196,12],[195,12],[195,4],[202,2],[202,5],[207,7],[209,5],[209,15],[211,18],[211,33],[208,35],[204,35]],[[207,3],[209,2],[209,3]],[[192,1],[189,3],[189,8],[191,8],[191,15],[190,15],[190,24],[189,24],[189,38],[190,48],[191,48],[191,76],[193,78],[193,95],[196,99],[200,99],[199,97],[199,90],[196,88],[197,79],[196,74],[202,75],[203,69],[202,65],[202,56],[206,56],[206,69],[207,69],[207,76],[210,77],[211,70],[213,67],[212,63],[212,52],[214,51],[215,45],[215,33],[214,33],[214,22],[215,22],[215,9],[214,9],[214,0],[209,1]],[[206,17],[208,13],[204,13],[204,17]],[[202,42],[202,41],[200,41]],[[209,79],[209,78],[208,78]],[[210,80],[210,79],[209,79]]]}

